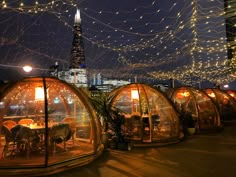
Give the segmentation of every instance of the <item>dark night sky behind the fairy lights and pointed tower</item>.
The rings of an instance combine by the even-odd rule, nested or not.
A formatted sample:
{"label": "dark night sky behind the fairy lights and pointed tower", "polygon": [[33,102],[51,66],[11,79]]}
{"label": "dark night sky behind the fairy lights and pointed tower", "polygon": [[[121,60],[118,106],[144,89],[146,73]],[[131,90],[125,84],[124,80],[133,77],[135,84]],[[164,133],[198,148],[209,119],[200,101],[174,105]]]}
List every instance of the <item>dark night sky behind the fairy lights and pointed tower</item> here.
{"label": "dark night sky behind the fairy lights and pointed tower", "polygon": [[[10,1],[0,8],[0,80],[21,66],[69,67],[76,9],[90,74],[183,85],[228,83],[224,4],[217,0]],[[21,4],[23,2],[24,4]],[[27,4],[28,3],[28,4]],[[33,74],[47,74],[35,70]]]}

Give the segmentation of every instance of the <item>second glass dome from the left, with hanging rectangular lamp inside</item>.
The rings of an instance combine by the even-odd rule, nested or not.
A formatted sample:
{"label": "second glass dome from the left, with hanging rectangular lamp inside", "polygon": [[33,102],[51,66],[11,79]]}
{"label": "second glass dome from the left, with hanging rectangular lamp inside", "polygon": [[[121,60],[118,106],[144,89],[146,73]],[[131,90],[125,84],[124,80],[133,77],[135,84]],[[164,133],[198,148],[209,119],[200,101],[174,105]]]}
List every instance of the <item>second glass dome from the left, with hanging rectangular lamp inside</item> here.
{"label": "second glass dome from the left, with hanging rectangular lamp inside", "polygon": [[129,84],[113,90],[112,105],[125,117],[124,134],[138,143],[179,140],[179,118],[170,100],[145,84]]}

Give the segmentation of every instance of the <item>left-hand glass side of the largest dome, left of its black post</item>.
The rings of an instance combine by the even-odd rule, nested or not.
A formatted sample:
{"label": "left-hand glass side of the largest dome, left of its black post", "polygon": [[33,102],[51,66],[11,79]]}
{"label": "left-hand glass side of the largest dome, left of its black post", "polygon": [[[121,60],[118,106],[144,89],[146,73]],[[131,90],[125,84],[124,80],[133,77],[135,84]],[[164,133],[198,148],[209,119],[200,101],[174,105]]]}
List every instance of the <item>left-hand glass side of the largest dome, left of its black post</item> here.
{"label": "left-hand glass side of the largest dome, left of its black post", "polygon": [[43,166],[45,163],[44,95],[36,88],[43,88],[42,80],[19,82],[2,100],[0,166]]}

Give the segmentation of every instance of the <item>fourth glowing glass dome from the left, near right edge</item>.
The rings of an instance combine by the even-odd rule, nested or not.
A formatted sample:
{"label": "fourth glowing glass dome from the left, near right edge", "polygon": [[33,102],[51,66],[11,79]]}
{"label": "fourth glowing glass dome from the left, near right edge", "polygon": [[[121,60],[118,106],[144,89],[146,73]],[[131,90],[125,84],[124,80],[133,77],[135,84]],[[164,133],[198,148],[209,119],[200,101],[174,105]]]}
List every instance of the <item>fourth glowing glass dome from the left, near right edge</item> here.
{"label": "fourth glowing glass dome from the left, near right edge", "polygon": [[224,91],[219,89],[205,89],[205,92],[215,101],[222,122],[236,120],[236,101]]}

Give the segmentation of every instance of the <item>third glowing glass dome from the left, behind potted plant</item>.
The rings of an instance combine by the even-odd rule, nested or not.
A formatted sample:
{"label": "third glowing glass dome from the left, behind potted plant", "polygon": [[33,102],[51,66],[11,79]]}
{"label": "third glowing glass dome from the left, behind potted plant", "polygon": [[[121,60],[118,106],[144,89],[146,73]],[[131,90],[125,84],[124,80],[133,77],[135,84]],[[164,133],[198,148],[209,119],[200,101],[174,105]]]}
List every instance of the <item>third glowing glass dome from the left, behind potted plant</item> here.
{"label": "third glowing glass dome from the left, behind potted plant", "polygon": [[179,112],[192,114],[198,131],[220,127],[217,107],[203,91],[192,87],[175,88],[170,98]]}

